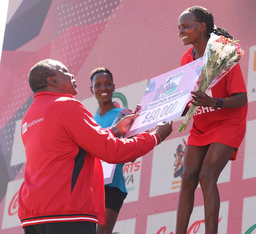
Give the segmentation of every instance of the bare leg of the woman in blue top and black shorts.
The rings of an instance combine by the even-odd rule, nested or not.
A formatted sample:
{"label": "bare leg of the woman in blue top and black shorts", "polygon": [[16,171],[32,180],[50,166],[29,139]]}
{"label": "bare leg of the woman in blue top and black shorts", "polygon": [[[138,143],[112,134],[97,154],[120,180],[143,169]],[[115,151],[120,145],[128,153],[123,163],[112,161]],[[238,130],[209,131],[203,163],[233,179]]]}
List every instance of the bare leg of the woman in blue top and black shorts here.
{"label": "bare leg of the woman in blue top and black shorts", "polygon": [[106,208],[105,225],[98,225],[97,234],[111,234],[116,224],[118,213],[112,209]]}

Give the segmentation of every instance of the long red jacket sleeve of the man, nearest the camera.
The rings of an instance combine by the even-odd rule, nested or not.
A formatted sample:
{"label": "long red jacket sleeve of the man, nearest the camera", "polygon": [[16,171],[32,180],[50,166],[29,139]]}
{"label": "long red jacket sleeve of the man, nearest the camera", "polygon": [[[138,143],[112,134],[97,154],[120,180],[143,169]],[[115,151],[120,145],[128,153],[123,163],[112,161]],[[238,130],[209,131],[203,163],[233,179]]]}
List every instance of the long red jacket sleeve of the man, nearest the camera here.
{"label": "long red jacket sleeve of the man, nearest the camera", "polygon": [[95,158],[108,163],[125,163],[145,155],[157,144],[154,134],[141,133],[131,139],[118,139],[104,131],[84,105],[71,100],[67,105],[66,129],[70,137]]}

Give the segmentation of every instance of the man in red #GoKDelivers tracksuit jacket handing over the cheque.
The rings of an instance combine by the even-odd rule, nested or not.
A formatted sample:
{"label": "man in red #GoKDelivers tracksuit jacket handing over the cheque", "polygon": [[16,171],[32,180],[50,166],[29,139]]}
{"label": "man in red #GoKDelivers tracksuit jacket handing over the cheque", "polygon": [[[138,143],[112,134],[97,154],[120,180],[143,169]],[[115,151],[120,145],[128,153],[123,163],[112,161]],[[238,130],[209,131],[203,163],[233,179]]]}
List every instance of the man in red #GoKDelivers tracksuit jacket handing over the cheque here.
{"label": "man in red #GoKDelivers tracksuit jacket handing over the cheque", "polygon": [[74,99],[76,80],[60,62],[40,61],[28,81],[35,95],[21,129],[27,157],[19,191],[21,226],[26,234],[95,234],[96,223],[105,222],[100,159],[135,160],[161,143],[172,123],[158,123],[150,134],[118,139],[137,114],[104,131]]}

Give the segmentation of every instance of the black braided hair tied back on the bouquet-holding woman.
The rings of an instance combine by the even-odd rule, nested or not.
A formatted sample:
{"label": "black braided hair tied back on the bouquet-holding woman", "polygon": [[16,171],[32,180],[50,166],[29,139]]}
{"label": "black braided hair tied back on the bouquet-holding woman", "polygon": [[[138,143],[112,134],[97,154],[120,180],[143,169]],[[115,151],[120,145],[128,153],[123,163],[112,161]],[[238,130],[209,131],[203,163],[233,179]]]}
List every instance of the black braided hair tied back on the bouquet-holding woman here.
{"label": "black braided hair tied back on the bouquet-holding woman", "polygon": [[228,34],[228,31],[225,28],[216,27],[214,25],[213,15],[208,9],[202,6],[192,6],[186,9],[182,14],[184,13],[192,13],[195,16],[195,21],[200,23],[204,22],[206,24],[208,34],[213,32],[218,36],[225,36],[232,39],[232,36]]}

